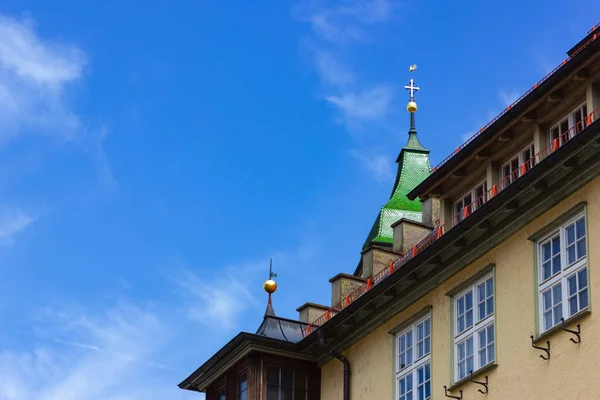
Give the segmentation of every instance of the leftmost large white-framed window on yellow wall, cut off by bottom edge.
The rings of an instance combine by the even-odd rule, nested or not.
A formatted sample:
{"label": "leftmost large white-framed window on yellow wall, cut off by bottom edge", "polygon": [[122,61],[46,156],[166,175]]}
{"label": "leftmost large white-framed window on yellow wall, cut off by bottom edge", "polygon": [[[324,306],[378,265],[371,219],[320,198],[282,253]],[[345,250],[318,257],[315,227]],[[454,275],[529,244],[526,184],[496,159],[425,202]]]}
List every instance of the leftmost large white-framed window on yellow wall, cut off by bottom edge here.
{"label": "leftmost large white-framed window on yellow wall, cut off by bottom edge", "polygon": [[431,317],[396,335],[396,398],[431,399]]}

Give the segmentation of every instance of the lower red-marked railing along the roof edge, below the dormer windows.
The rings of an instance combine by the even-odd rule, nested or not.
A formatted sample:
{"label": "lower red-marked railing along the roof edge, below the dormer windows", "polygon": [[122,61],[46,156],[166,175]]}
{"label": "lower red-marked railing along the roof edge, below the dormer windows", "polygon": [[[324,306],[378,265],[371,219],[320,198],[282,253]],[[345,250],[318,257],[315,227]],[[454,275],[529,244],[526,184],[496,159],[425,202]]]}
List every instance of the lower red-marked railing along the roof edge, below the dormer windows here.
{"label": "lower red-marked railing along the roof edge, below the dormer windows", "polygon": [[495,197],[498,193],[509,187],[511,184],[515,183],[520,177],[525,175],[537,164],[539,164],[540,161],[542,161],[544,158],[548,157],[550,154],[564,146],[569,140],[574,138],[583,129],[585,129],[585,127],[587,127],[592,122],[598,119],[600,119],[600,107],[589,113],[583,120],[579,121],[571,129],[569,129],[566,132],[563,132],[559,137],[554,138],[548,146],[541,149],[529,160],[523,162],[521,165],[519,165],[519,167],[516,170],[512,171],[509,175],[503,177],[502,180],[493,185],[487,192],[475,199],[475,201],[471,204],[465,206],[460,212],[455,214],[444,224],[439,225],[438,223],[438,225],[434,227],[433,230],[427,234],[427,236],[421,239],[410,250],[400,255],[400,257],[398,257],[396,261],[390,263],[388,267],[386,267],[379,273],[373,275],[371,278],[367,279],[367,281],[364,284],[361,284],[356,290],[346,295],[340,302],[335,304],[323,315],[321,315],[315,321],[310,323],[305,329],[303,329],[303,334],[305,336],[310,335],[325,322],[333,318],[341,310],[348,307],[356,299],[358,299],[363,294],[371,290],[373,286],[376,286],[380,282],[384,281],[388,276],[393,274],[394,271],[402,267],[421,251],[429,247],[442,235],[444,235],[446,232],[450,231],[453,227],[458,225],[462,220],[469,217],[469,215],[471,215],[472,213],[476,212],[479,208],[481,208],[486,202]]}

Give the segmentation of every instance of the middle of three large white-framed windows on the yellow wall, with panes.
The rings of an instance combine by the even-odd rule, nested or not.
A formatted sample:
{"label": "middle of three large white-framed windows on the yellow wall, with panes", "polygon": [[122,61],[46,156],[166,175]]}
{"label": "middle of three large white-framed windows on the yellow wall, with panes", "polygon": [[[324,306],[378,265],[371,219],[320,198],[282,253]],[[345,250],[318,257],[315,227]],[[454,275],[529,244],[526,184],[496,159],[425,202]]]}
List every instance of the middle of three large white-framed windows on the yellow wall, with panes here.
{"label": "middle of three large white-framed windows on the yellow wall, with panes", "polygon": [[456,381],[495,360],[494,277],[490,274],[454,297]]}

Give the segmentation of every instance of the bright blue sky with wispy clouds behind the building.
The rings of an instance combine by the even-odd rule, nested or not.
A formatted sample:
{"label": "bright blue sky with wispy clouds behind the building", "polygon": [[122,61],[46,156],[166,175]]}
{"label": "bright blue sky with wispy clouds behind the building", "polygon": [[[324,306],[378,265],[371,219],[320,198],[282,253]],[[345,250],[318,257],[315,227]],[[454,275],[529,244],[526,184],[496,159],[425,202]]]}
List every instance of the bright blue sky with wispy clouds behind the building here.
{"label": "bright blue sky with wispy clouds behind the building", "polygon": [[0,3],[0,400],[202,399],[329,304],[407,140],[432,165],[558,65],[593,1]]}

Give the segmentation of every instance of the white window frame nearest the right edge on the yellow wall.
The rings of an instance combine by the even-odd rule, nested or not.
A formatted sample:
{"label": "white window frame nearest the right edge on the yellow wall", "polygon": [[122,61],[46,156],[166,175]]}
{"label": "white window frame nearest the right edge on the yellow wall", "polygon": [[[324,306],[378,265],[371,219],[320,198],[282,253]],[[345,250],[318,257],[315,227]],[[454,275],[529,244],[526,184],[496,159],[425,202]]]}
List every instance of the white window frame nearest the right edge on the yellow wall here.
{"label": "white window frame nearest the right edge on the yellow wall", "polygon": [[[577,237],[577,222],[583,219],[584,221],[584,238],[585,238],[585,255],[580,258],[576,258],[574,262],[567,264],[567,247],[571,245],[575,246],[575,254],[577,255],[577,242],[581,239],[581,237]],[[539,239],[535,240],[535,271],[536,271],[536,301],[537,301],[537,312],[536,312],[536,321],[538,327],[538,335],[542,335],[548,333],[555,329],[556,327],[561,325],[560,319],[558,321],[553,320],[553,325],[546,327],[544,313],[547,311],[544,309],[544,295],[549,291],[554,290],[555,287],[560,287],[560,307],[561,307],[561,317],[564,318],[565,321],[568,321],[576,316],[585,313],[591,310],[591,294],[590,294],[590,269],[589,269],[589,230],[588,230],[589,219],[587,218],[587,213],[584,210],[577,212],[574,215],[569,216],[568,218],[560,221],[556,226],[554,226],[549,232],[546,232]],[[566,229],[574,225],[574,237],[575,241],[571,245],[567,245],[566,243]],[[544,278],[543,265],[543,246],[547,243],[551,243],[551,241],[555,238],[559,239],[559,252],[560,252],[560,269],[558,272],[552,272],[552,263],[550,264],[550,273],[551,275],[548,278]],[[551,256],[550,259],[553,259],[556,255],[552,253],[552,248],[550,248]],[[574,313],[570,313],[569,310],[569,299],[572,295],[569,295],[569,279],[573,276],[576,277],[576,296],[581,292],[581,287],[579,287],[579,272],[585,269],[586,276],[586,287],[587,291],[587,305],[585,307],[580,307],[578,304],[578,310]],[[552,305],[551,310],[553,310],[557,304],[554,304],[554,292],[552,293]],[[554,319],[554,316],[552,316]]]}

